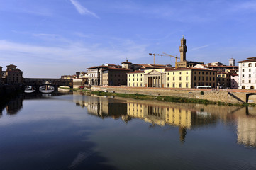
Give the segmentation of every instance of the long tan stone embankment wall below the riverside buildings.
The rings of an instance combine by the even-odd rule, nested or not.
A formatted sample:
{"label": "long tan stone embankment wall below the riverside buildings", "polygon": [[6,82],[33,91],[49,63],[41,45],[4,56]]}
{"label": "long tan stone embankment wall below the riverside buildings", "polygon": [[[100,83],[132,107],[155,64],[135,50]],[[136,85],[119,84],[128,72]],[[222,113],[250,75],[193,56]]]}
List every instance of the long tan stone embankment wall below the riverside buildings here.
{"label": "long tan stone embankment wall below the riverside buildings", "polygon": [[[256,90],[236,89],[178,89],[178,88],[145,88],[123,86],[91,86],[91,91],[115,91],[121,94],[145,94],[152,96],[175,96],[185,98],[206,99],[226,103],[245,103],[246,94],[255,93]],[[201,95],[204,91],[204,95]],[[249,97],[248,103],[256,103],[256,95]]]}

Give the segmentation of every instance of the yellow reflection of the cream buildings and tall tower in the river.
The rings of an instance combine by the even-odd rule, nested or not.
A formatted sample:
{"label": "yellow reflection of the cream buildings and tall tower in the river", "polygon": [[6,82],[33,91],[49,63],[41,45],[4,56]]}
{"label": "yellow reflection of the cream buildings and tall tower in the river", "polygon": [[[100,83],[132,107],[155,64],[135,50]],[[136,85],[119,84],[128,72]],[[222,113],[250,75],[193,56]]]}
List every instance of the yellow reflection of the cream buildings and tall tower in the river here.
{"label": "yellow reflection of the cream buildings and tall tower in the river", "polygon": [[203,111],[194,111],[169,106],[147,105],[137,102],[128,102],[128,116],[140,118],[152,125],[174,125],[179,127],[179,139],[185,141],[187,129],[216,123],[216,115]]}

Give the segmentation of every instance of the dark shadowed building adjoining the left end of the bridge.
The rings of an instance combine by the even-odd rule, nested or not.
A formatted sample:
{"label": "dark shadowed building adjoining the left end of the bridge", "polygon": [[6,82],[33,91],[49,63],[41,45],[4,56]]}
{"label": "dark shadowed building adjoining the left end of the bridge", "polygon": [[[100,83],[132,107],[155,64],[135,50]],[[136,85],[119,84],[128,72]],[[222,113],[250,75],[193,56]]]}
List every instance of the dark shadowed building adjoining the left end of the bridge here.
{"label": "dark shadowed building adjoining the left end of the bridge", "polygon": [[23,81],[23,72],[16,65],[10,64],[7,66],[5,77],[7,84],[21,84]]}

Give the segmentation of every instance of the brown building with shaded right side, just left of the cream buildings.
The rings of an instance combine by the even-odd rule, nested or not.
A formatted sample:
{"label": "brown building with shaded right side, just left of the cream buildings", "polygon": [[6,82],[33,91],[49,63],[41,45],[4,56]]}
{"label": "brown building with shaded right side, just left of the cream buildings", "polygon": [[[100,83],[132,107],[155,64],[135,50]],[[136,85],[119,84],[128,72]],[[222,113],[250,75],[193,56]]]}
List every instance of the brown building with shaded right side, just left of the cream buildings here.
{"label": "brown building with shaded right side, just left of the cream buildings", "polygon": [[107,68],[102,71],[102,86],[127,85],[127,73],[130,69]]}

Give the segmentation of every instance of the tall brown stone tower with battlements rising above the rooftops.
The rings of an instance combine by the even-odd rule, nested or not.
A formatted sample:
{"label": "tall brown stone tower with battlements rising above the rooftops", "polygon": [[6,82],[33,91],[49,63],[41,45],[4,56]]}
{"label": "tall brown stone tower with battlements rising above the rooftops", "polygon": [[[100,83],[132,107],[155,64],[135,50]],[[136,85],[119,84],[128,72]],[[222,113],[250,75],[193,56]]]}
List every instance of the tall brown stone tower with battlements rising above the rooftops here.
{"label": "tall brown stone tower with battlements rising above the rooftops", "polygon": [[180,40],[180,42],[181,42],[181,45],[179,46],[180,62],[177,62],[178,68],[187,68],[187,67],[193,67],[196,64],[204,64],[204,62],[187,61],[186,59],[187,45],[186,45],[186,39],[184,38],[184,36],[182,40]]}

